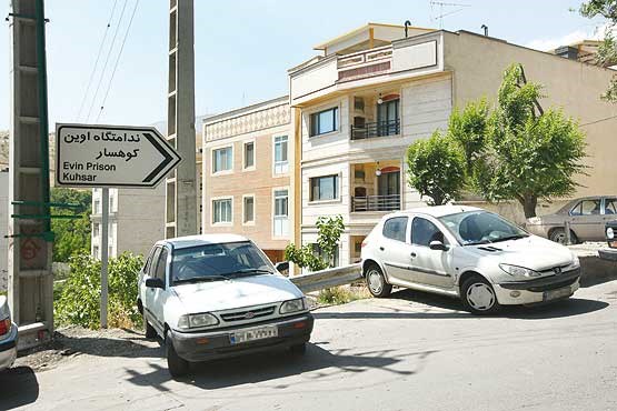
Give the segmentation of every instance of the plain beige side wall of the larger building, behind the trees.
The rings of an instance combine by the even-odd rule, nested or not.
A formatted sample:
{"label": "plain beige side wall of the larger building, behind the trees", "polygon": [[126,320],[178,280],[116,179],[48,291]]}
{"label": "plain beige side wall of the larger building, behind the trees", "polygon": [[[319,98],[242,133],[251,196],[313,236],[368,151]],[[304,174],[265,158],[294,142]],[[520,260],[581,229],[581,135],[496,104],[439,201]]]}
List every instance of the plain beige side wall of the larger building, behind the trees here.
{"label": "plain beige side wall of the larger building, behind the trees", "polygon": [[[617,106],[600,100],[615,71],[579,63],[554,54],[509,44],[469,32],[445,32],[446,70],[454,70],[454,100],[457,107],[486,96],[495,100],[505,69],[519,62],[528,81],[545,86],[548,97],[540,103],[563,108],[578,119],[587,133],[588,177],[577,180],[583,186],[575,197],[617,193],[615,172],[615,133]],[[548,209],[538,209],[545,211]]]}

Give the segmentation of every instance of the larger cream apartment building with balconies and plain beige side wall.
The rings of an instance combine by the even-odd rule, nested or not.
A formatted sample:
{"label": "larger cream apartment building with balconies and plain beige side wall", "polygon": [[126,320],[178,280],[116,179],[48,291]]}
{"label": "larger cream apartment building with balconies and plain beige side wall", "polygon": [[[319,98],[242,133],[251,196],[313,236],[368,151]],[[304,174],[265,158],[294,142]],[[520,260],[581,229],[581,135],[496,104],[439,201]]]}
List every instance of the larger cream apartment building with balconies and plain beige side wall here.
{"label": "larger cream apartment building with balconies and plain beige side wall", "polygon": [[546,87],[545,107],[563,107],[587,133],[590,173],[579,178],[577,194],[617,190],[607,178],[617,109],[599,99],[611,70],[468,31],[377,23],[315,49],[320,56],[289,70],[295,241],[315,243],[317,218],[341,214],[340,264],[359,260],[362,240],[385,213],[424,206],[406,182],[407,147],[447,128],[455,107],[494,101],[514,62]]}

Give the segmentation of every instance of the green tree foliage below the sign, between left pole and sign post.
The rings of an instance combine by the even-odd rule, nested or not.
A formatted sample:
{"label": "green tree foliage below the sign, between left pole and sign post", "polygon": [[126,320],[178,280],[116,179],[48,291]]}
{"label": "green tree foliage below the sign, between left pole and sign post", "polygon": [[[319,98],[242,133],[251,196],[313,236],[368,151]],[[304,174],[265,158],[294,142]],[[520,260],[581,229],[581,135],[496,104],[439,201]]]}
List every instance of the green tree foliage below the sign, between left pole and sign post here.
{"label": "green tree foliage below the sign, between left pole and sign post", "polygon": [[90,212],[92,192],[66,188],[51,189],[51,201],[79,204],[77,209],[54,208],[53,214],[78,214],[79,219],[53,219],[51,231],[53,242],[53,261],[68,262],[71,255],[90,253]]}

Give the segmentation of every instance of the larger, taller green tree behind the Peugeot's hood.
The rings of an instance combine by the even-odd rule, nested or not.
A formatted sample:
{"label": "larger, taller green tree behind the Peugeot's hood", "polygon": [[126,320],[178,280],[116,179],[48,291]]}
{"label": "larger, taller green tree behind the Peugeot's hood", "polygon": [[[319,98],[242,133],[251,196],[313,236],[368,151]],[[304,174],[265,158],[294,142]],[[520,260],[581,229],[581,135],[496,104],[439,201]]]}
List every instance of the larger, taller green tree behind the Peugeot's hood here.
{"label": "larger, taller green tree behind the Peugeot's hood", "polygon": [[510,66],[487,122],[486,152],[471,177],[489,201],[517,200],[525,217],[536,215],[538,199],[571,194],[583,173],[585,136],[561,110],[543,110],[541,86],[527,82],[520,64]]}

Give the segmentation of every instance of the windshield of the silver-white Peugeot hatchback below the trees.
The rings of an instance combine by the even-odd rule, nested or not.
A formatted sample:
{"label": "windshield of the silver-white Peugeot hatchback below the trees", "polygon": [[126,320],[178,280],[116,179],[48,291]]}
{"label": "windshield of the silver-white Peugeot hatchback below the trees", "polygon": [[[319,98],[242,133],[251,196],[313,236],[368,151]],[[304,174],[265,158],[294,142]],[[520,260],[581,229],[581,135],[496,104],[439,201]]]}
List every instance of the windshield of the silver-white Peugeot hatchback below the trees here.
{"label": "windshield of the silver-white Peugeot hatchback below the trees", "polygon": [[529,237],[525,230],[487,211],[460,212],[440,217],[439,220],[462,245],[486,244]]}

